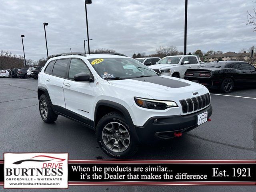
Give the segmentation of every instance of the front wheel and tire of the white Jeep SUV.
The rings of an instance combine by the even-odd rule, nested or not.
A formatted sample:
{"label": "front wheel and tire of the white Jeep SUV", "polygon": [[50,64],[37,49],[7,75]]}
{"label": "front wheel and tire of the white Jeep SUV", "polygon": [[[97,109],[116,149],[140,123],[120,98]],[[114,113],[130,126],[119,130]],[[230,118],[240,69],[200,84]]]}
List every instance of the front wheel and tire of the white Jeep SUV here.
{"label": "front wheel and tire of the white Jeep SUV", "polygon": [[119,112],[110,112],[99,120],[96,138],[102,151],[112,158],[128,158],[138,150],[129,125]]}

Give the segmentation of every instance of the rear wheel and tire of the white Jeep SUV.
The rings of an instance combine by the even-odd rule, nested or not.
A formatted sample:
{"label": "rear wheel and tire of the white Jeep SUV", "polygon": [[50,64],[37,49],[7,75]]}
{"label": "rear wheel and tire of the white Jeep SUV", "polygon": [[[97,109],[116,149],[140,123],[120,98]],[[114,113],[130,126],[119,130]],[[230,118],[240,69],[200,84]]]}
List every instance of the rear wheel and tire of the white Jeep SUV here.
{"label": "rear wheel and tire of the white Jeep SUV", "polygon": [[46,95],[41,95],[39,99],[39,112],[42,120],[46,123],[53,123],[58,115],[54,113]]}

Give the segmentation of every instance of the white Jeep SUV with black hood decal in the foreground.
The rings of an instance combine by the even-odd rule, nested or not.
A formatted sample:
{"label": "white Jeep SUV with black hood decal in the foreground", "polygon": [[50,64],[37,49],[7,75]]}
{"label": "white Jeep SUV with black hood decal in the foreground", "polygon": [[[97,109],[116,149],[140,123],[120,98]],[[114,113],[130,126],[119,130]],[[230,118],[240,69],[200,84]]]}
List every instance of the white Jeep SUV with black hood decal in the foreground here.
{"label": "white Jeep SUV with black hood decal in the foreground", "polygon": [[120,55],[79,52],[49,59],[38,76],[42,120],[53,123],[62,115],[84,124],[114,158],[127,158],[143,142],[181,136],[210,121],[205,86],[163,76]]}

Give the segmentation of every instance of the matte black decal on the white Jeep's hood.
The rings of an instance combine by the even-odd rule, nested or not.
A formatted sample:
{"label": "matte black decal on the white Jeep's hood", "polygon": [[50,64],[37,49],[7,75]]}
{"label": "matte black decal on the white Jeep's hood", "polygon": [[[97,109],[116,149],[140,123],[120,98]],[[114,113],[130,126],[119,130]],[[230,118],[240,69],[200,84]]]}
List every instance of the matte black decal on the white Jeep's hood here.
{"label": "matte black decal on the white Jeep's hood", "polygon": [[158,84],[158,85],[162,85],[170,88],[181,88],[181,87],[190,86],[190,84],[188,83],[169,79],[169,78],[164,78],[162,76],[140,77],[140,78],[134,78],[133,80],[154,83],[154,84]]}

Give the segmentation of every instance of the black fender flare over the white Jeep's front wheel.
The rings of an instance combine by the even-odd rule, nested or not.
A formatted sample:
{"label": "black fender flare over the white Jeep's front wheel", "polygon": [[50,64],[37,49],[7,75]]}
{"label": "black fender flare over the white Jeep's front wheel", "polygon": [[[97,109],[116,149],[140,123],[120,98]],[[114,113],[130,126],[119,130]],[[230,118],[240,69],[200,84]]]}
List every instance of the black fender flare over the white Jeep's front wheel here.
{"label": "black fender flare over the white Jeep's front wheel", "polygon": [[97,114],[97,110],[98,110],[99,106],[112,107],[112,108],[115,108],[116,110],[119,110],[120,112],[122,112],[122,114],[124,114],[124,117],[126,118],[128,124],[130,126],[130,131],[131,131],[132,135],[134,136],[136,141],[139,141],[137,132],[135,130],[134,124],[132,122],[132,118],[131,118],[128,110],[123,105],[113,102],[113,101],[99,100],[97,102],[97,104],[95,106],[95,110],[94,110],[94,127],[95,128],[96,128],[96,114]]}

